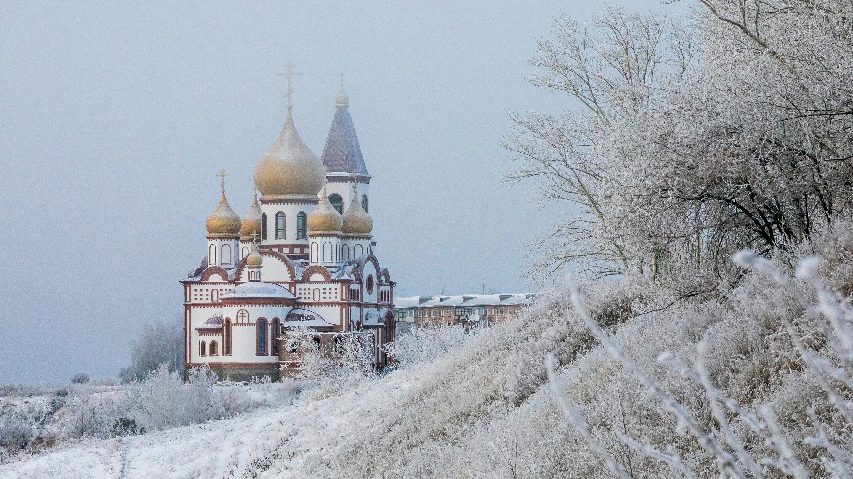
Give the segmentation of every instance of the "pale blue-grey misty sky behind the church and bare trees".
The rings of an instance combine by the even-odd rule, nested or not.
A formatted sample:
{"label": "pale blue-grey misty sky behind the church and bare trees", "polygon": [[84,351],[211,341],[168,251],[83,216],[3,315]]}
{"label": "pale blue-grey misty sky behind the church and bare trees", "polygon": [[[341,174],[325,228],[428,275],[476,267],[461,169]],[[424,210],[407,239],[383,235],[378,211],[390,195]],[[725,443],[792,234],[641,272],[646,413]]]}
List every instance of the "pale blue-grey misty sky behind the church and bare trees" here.
{"label": "pale blue-grey misty sky behind the church and bare trees", "polygon": [[[627,9],[666,10],[658,0]],[[0,1],[0,384],[115,377],[180,315],[219,168],[241,216],[285,116],[318,155],[344,71],[380,263],[403,295],[525,291],[523,241],[560,209],[500,184],[508,112],[560,9],[602,3]]]}

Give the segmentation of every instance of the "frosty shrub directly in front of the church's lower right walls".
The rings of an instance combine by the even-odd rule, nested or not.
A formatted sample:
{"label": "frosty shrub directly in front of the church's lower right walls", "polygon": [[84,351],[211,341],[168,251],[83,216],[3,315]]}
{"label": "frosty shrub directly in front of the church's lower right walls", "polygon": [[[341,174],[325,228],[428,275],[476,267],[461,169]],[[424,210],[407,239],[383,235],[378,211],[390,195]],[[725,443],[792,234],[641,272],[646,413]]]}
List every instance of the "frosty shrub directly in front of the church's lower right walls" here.
{"label": "frosty shrub directly in front of the church's lower right walls", "polygon": [[296,352],[291,361],[300,380],[339,386],[350,380],[372,378],[375,374],[373,336],[368,332],[341,333],[336,337],[334,348],[329,349],[320,347],[312,328],[290,328],[282,338],[284,344]]}

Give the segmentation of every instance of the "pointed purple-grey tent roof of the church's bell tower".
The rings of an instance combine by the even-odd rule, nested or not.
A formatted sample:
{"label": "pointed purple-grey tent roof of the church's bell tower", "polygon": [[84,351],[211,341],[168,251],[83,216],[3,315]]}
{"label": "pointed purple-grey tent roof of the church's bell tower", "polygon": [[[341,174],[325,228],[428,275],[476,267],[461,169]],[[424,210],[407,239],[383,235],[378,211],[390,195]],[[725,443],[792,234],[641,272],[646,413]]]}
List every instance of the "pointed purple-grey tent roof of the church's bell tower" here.
{"label": "pointed purple-grey tent roof of the church's bell tower", "polygon": [[350,96],[346,95],[343,85],[334,97],[336,110],[332,119],[332,128],[328,130],[326,146],[322,149],[322,164],[330,173],[351,173],[358,171],[361,176],[369,176],[362,158],[362,148],[358,146],[356,127],[350,116]]}

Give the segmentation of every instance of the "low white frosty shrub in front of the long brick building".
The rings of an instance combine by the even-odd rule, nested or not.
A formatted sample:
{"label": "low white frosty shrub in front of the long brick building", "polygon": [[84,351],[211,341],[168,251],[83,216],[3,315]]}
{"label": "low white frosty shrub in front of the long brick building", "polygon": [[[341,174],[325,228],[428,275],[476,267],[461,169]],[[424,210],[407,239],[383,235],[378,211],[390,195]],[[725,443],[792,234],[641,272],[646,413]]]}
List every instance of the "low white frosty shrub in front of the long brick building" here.
{"label": "low white frosty shrub in front of the long brick building", "polygon": [[432,361],[451,349],[458,348],[477,331],[475,329],[467,333],[461,325],[444,323],[415,326],[409,332],[394,338],[394,342],[387,344],[385,350],[399,366]]}

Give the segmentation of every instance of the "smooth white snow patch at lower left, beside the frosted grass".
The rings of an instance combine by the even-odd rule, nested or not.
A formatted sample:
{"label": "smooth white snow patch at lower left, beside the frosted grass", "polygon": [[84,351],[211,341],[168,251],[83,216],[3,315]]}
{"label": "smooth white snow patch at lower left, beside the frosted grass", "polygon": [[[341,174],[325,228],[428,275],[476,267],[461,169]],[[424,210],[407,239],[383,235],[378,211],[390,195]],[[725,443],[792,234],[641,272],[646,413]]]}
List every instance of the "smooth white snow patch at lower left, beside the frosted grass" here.
{"label": "smooth white snow patch at lower left, beside the frosted grass", "polygon": [[[262,409],[236,418],[179,427],[142,436],[71,441],[48,453],[0,465],[0,477],[229,477],[300,476],[299,461],[276,456],[282,444],[334,444],[338,430],[363,408],[391,404],[407,384],[406,372],[319,400],[302,398],[290,406]],[[22,399],[20,399],[22,400]],[[318,452],[322,452],[322,446]],[[267,465],[277,463],[272,470]]]}

